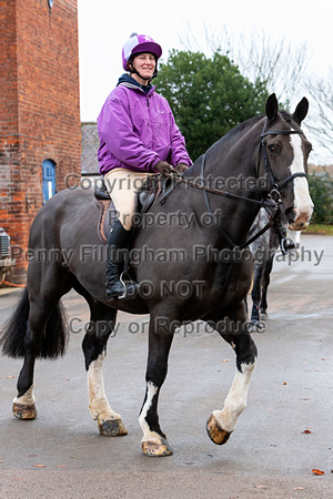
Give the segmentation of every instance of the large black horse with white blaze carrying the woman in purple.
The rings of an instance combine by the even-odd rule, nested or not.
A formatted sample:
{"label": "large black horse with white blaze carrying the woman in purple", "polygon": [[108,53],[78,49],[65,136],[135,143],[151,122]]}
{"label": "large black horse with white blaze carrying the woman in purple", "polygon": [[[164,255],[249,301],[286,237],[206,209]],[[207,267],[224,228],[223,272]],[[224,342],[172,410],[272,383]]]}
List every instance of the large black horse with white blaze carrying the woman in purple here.
{"label": "large black horse with white blaze carrying the woman in purple", "polygon": [[[105,245],[99,238],[100,212],[91,192],[62,191],[40,210],[30,232],[27,289],[1,339],[4,354],[24,358],[14,416],[31,419],[37,415],[34,361],[63,354],[67,335],[60,299],[74,288],[91,312],[82,347],[89,408],[102,435],[127,432],[121,416],[109,405],[102,378],[107,342],[120,309],[150,314],[147,390],[139,418],[143,452],[172,454],[160,428],[158,398],[173,333],[196,319],[213,327],[236,355],[235,378],[224,407],[213,411],[206,426],[215,444],[228,440],[245,408],[256,358],[243,303],[252,274],[246,236],[261,205],[279,204],[295,228],[309,225],[313,206],[306,180],[311,144],[300,129],[307,108],[303,98],[293,114],[279,112],[272,94],[265,115],[242,123],[218,141],[182,181],[174,181],[163,204],[157,201],[152,205],[147,216],[154,222],[148,224],[143,217],[130,254],[141,285],[135,299],[105,299]],[[138,261],[140,265],[135,265]],[[180,281],[185,292],[178,286]]]}

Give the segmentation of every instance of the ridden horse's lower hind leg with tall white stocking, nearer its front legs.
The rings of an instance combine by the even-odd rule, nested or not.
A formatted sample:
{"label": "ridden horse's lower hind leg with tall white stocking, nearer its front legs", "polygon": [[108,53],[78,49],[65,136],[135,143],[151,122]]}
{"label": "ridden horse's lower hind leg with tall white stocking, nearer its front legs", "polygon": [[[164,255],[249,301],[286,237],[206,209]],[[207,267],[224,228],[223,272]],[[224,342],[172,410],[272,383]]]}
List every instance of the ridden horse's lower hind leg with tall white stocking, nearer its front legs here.
{"label": "ridden horse's lower hind leg with tall white stocking, nearer its front legs", "polygon": [[100,303],[90,303],[90,325],[83,338],[82,349],[85,359],[89,391],[89,410],[98,421],[101,435],[117,437],[127,435],[121,416],[111,409],[104,391],[103,360],[109,336],[114,329],[117,310]]}

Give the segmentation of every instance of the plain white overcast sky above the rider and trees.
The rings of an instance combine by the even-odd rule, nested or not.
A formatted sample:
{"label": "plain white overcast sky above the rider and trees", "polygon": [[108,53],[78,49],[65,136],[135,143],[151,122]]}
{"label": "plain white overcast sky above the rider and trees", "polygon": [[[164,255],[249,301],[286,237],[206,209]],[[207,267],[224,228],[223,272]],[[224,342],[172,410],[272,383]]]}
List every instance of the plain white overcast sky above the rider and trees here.
{"label": "plain white overcast sky above the rider and trees", "polygon": [[[122,74],[121,49],[132,32],[152,37],[165,60],[172,49],[193,33],[196,47],[208,53],[206,33],[219,39],[230,33],[265,33],[297,47],[306,42],[307,73],[323,78],[333,68],[330,0],[79,0],[81,121],[95,121],[110,91]],[[209,53],[208,53],[209,54]],[[303,95],[296,95],[296,104]]]}

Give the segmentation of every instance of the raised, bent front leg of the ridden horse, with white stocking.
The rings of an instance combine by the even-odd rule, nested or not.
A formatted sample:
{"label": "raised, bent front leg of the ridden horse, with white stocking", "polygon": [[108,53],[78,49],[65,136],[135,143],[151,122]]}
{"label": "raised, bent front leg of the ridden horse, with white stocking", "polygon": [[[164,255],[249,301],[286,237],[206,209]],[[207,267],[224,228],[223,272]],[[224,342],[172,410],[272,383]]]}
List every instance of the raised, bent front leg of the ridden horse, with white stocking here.
{"label": "raised, bent front leg of the ridden horse, with white stocking", "polygon": [[[216,325],[221,336],[231,344],[236,354],[236,371],[222,410],[214,410],[208,420],[209,437],[214,444],[223,445],[236,426],[239,416],[246,407],[248,391],[255,366],[256,347],[246,332],[245,312],[241,307],[235,320],[224,319]],[[229,332],[225,333],[225,326]]]}

